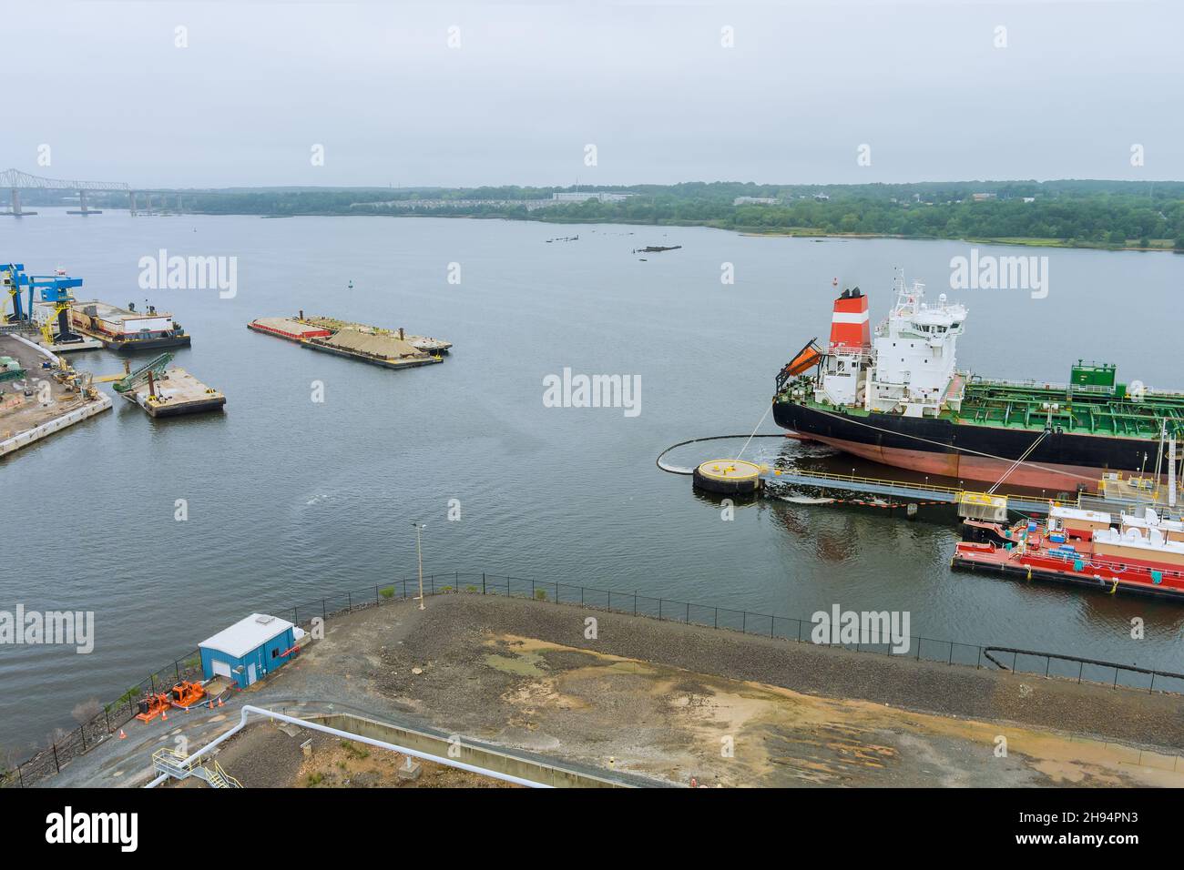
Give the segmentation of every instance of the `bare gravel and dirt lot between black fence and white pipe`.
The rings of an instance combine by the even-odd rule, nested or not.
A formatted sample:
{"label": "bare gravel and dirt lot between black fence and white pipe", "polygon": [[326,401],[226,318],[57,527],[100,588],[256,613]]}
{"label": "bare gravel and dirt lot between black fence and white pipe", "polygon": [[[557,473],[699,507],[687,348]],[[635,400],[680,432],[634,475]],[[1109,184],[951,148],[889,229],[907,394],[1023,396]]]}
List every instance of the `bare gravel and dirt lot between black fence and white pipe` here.
{"label": "bare gravel and dirt lot between black fence and white pipe", "polygon": [[154,748],[205,745],[244,702],[348,709],[676,784],[1184,785],[1173,695],[464,593],[327,629],[226,707],[135,723],[46,785],[143,784]]}

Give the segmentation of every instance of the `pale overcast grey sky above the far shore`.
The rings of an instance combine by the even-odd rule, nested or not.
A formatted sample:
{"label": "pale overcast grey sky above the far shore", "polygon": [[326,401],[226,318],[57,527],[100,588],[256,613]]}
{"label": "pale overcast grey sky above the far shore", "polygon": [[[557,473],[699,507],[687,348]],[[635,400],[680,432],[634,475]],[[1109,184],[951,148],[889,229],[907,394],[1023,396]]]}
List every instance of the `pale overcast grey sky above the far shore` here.
{"label": "pale overcast grey sky above the far shore", "polygon": [[51,178],[1184,178],[1179,0],[5,0],[2,21],[0,168]]}

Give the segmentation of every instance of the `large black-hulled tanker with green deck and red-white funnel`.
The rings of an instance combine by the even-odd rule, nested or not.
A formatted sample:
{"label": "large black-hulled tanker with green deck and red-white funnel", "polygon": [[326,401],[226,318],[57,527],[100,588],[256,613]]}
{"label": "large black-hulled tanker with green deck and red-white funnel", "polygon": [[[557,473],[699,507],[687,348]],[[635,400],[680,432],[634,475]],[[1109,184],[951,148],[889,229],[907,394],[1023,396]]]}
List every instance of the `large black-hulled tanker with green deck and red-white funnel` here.
{"label": "large black-hulled tanker with green deck and red-white funnel", "polygon": [[1120,384],[1079,360],[1068,384],[986,380],[959,370],[966,308],[896,278],[888,317],[869,329],[858,288],[835,301],[830,342],[812,340],[777,376],[773,417],[855,456],[959,481],[1056,491],[1122,472],[1176,476],[1184,394]]}

